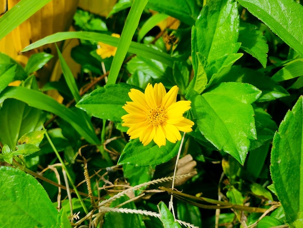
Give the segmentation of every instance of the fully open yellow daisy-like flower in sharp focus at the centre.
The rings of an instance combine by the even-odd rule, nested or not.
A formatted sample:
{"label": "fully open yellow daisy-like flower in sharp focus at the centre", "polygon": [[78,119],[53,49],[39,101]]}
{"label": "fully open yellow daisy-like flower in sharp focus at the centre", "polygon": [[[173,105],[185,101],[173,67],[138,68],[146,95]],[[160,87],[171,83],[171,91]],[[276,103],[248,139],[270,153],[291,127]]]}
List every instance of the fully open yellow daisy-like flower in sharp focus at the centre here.
{"label": "fully open yellow daisy-like flower in sharp focus at the centre", "polygon": [[190,132],[194,122],[183,117],[190,109],[189,100],[176,102],[179,88],[175,85],[168,92],[162,83],[154,87],[149,83],[145,93],[131,89],[132,99],[122,107],[128,114],[121,118],[122,126],[129,127],[127,134],[131,139],[139,138],[144,146],[152,140],[161,147],[166,139],[172,143],[181,140],[180,131]]}

